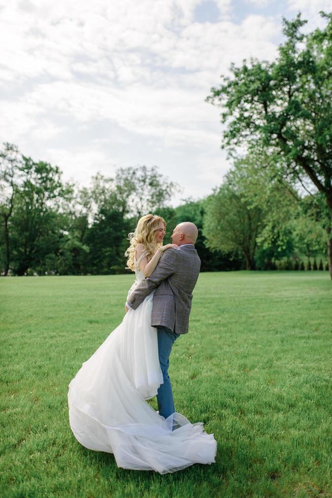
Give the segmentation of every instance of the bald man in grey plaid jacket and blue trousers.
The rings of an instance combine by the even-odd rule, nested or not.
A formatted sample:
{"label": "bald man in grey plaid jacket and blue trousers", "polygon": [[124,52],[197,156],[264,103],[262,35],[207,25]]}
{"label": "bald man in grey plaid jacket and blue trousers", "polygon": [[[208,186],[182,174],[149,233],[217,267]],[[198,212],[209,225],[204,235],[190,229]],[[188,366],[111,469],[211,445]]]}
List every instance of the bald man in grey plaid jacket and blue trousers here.
{"label": "bald man in grey plaid jacket and blue trousers", "polygon": [[179,249],[164,251],[149,277],[131,292],[127,307],[136,309],[154,289],[151,326],[158,330],[158,354],[163,384],[157,392],[159,415],[175,412],[172,384],[168,373],[169,357],[175,340],[188,332],[192,291],[200,273],[201,260],[195,250],[198,235],[193,223],[177,225],[171,235]]}

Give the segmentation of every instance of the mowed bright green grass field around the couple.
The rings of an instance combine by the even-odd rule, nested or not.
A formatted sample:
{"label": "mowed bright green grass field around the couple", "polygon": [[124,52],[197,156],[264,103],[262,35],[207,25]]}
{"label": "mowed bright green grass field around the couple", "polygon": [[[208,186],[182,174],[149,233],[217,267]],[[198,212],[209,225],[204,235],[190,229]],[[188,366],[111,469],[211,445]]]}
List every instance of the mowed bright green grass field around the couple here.
{"label": "mowed bright green grass field around the couple", "polygon": [[121,322],[132,281],[0,279],[0,495],[332,496],[327,272],[200,275],[170,376],[176,410],[214,433],[216,463],[162,476],[128,471],[75,440],[68,384]]}

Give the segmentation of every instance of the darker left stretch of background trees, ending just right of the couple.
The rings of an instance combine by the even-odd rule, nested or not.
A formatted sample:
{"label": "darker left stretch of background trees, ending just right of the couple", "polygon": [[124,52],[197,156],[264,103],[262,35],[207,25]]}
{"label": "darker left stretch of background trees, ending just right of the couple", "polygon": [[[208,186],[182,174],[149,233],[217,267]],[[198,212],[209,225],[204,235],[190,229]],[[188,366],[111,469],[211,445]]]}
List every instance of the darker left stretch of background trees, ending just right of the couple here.
{"label": "darker left stretch of background trees, ending just right of the couple", "polygon": [[[169,206],[179,186],[157,168],[97,173],[89,187],[62,181],[58,166],[34,161],[5,143],[0,152],[0,269],[2,275],[108,274],[125,270],[128,233],[147,212],[167,221],[170,235],[186,219],[200,228],[203,270],[233,269],[212,253],[202,235],[203,207]],[[239,264],[239,263],[238,263]]]}

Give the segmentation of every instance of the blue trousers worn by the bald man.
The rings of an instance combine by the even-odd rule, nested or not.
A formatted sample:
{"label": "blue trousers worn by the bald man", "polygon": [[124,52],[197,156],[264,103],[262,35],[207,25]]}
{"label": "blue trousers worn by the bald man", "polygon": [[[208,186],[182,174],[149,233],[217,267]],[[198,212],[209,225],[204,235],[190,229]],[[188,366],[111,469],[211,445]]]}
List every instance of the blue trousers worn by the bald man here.
{"label": "blue trousers worn by the bald man", "polygon": [[170,354],[175,340],[180,336],[167,327],[157,327],[158,354],[162,371],[163,384],[157,392],[159,415],[167,418],[175,412],[171,379],[169,376]]}

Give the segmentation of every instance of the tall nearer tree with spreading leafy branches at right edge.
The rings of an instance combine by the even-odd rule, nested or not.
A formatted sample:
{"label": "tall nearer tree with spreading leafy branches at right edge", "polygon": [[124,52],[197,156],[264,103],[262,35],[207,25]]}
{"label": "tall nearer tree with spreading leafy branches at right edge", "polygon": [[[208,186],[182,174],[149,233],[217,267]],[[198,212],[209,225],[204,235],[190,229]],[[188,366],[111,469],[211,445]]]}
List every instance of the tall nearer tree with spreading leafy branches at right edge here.
{"label": "tall nearer tree with spreading leafy branches at right edge", "polygon": [[207,101],[223,108],[222,146],[263,149],[282,173],[309,184],[328,207],[327,253],[332,278],[332,14],[323,29],[304,35],[300,14],[284,19],[286,41],[272,63],[231,65],[231,77],[211,88]]}

